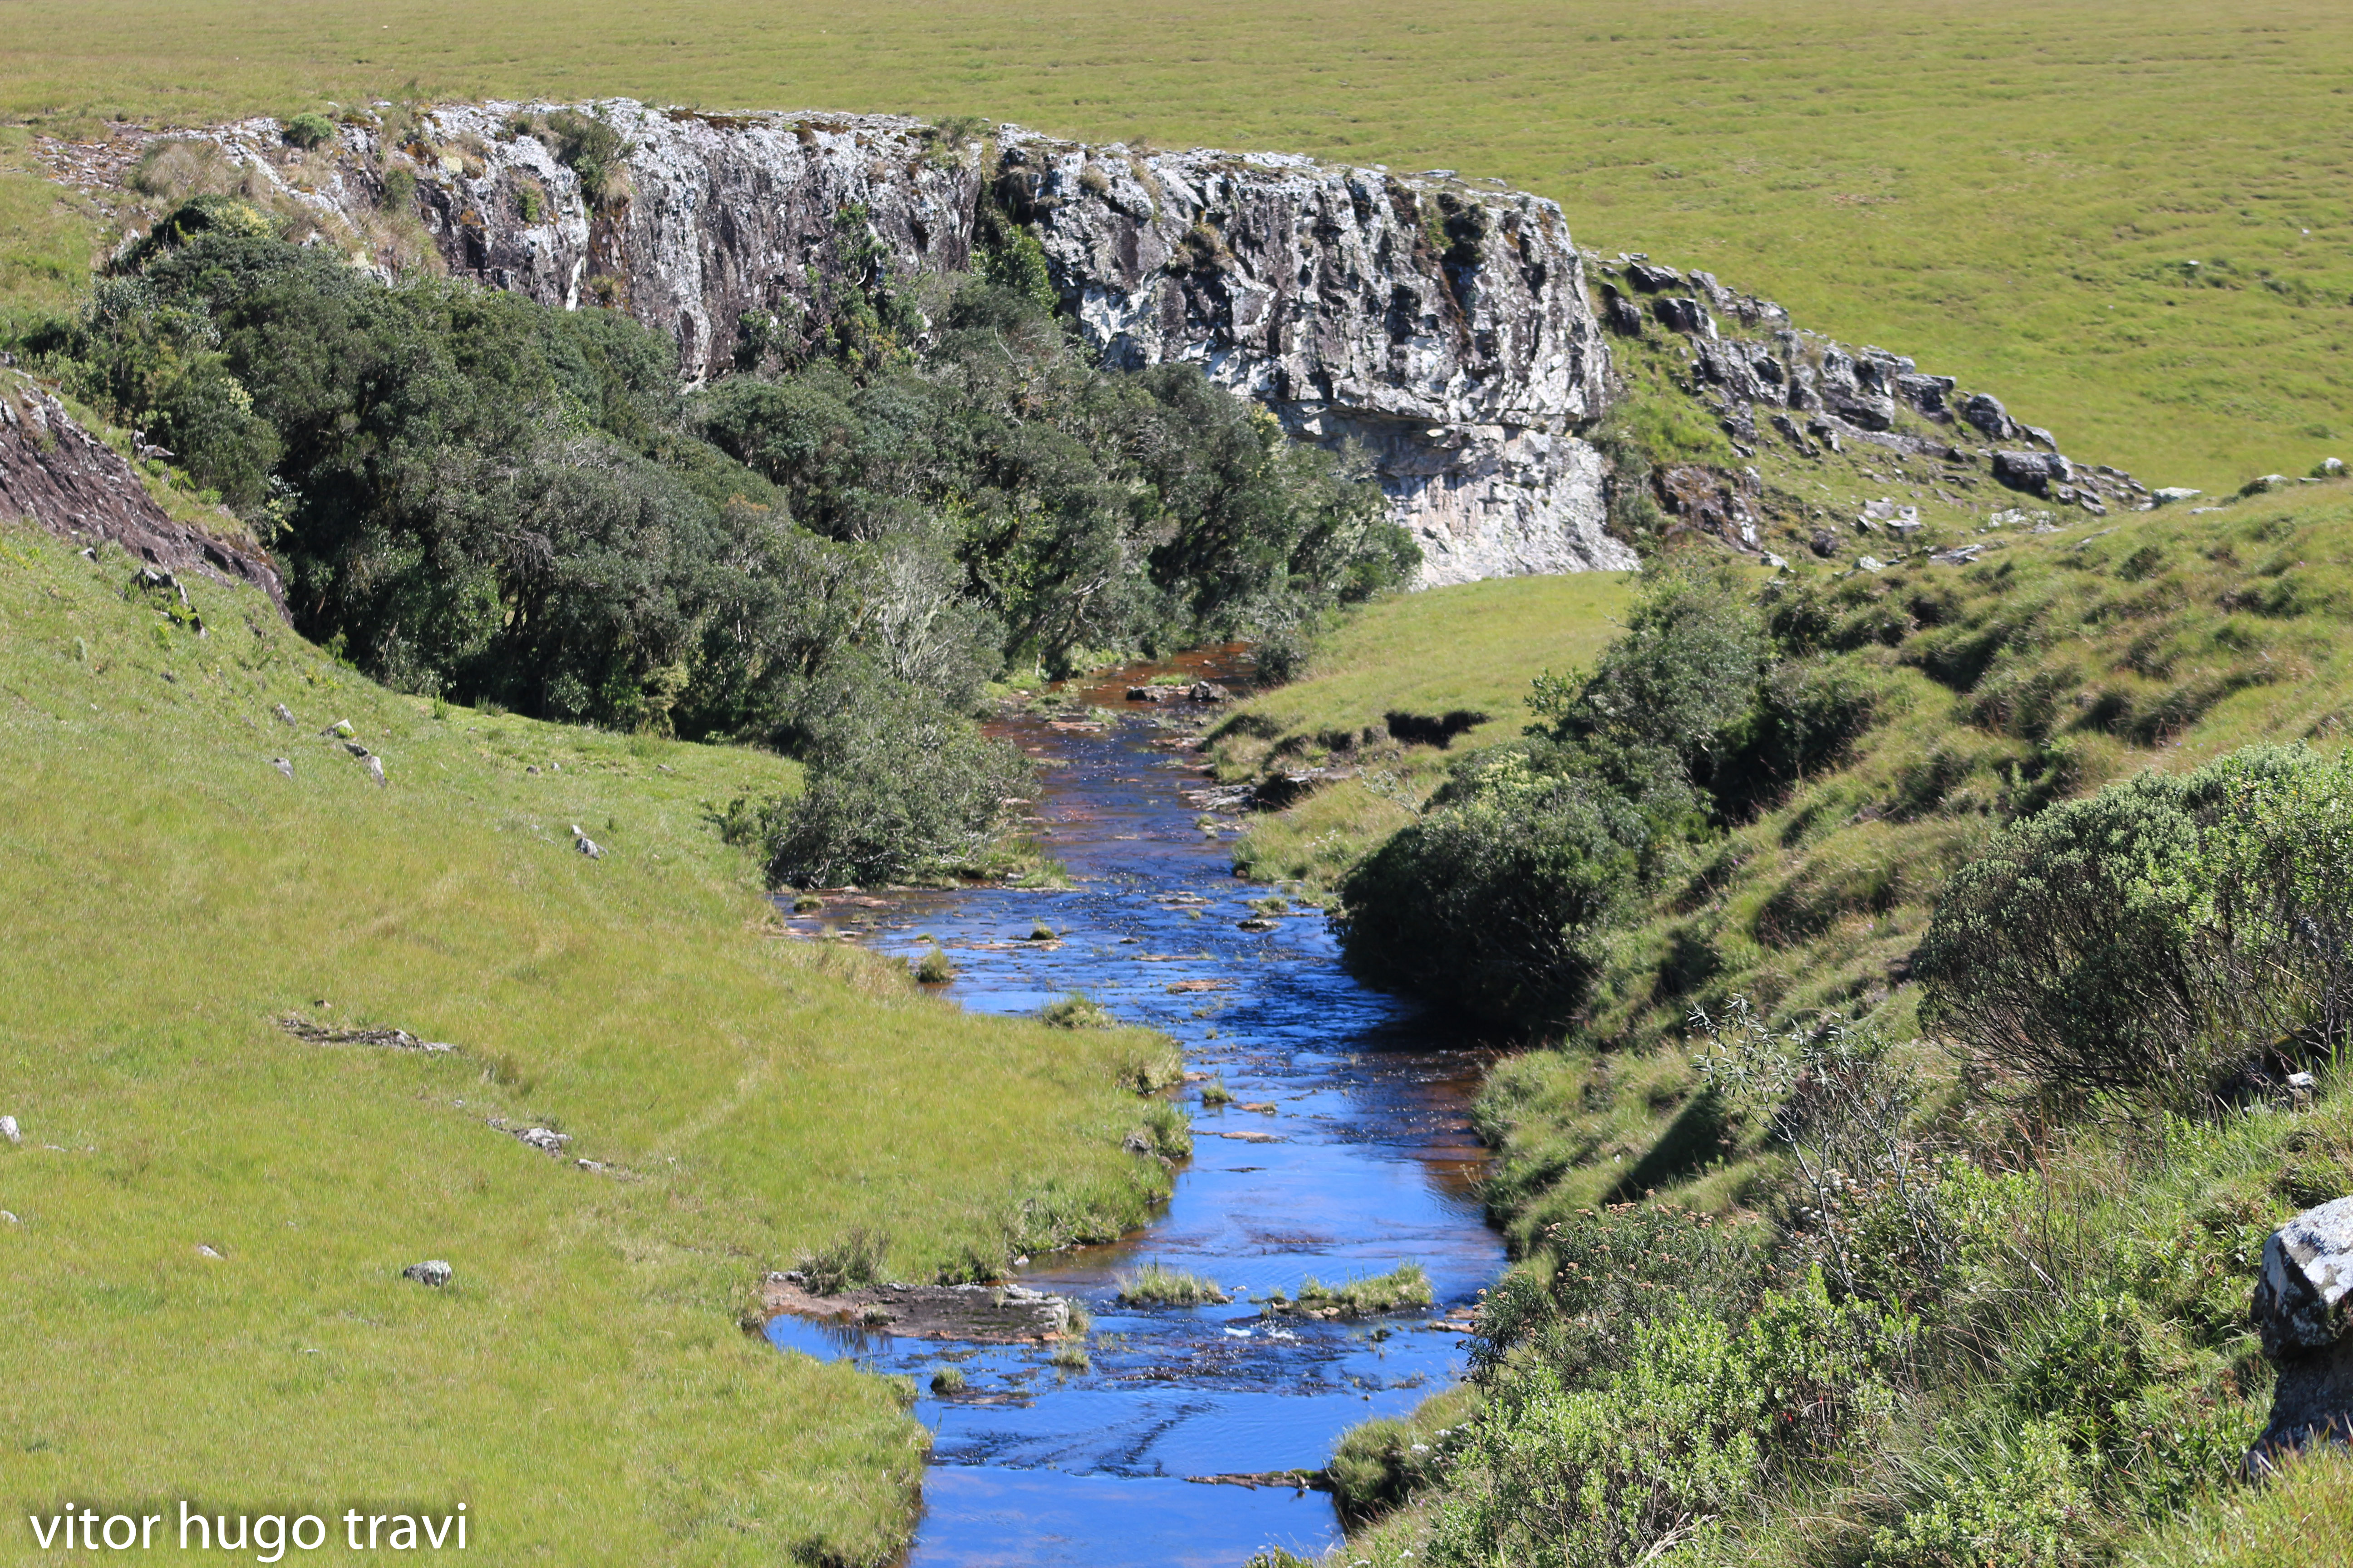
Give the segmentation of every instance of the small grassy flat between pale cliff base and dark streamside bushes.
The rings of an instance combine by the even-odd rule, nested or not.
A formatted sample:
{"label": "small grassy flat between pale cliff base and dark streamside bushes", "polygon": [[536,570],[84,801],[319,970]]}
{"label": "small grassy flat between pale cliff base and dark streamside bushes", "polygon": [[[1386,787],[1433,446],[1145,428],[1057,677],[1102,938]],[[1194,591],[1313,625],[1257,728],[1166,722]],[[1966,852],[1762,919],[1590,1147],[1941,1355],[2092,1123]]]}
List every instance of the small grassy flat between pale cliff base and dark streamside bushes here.
{"label": "small grassy flat between pale cliff base and dark streamside bushes", "polygon": [[[1631,576],[1588,571],[1499,578],[1395,595],[1351,616],[1315,649],[1304,679],[1242,703],[1209,757],[1221,778],[1285,766],[1355,766],[1275,816],[1252,818],[1235,865],[1320,896],[1369,844],[1405,825],[1445,780],[1449,755],[1494,745],[1527,722],[1527,684],[1593,658],[1617,635]],[[1445,748],[1405,745],[1386,715],[1482,712]]]}

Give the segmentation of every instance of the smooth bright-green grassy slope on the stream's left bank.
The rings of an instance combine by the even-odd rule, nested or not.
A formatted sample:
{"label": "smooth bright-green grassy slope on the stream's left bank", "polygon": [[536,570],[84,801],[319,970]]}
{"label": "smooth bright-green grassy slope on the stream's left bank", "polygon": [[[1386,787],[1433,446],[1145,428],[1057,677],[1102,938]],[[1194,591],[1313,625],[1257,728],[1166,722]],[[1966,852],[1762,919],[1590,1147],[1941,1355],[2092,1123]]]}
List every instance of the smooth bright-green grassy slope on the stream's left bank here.
{"label": "smooth bright-green grassy slope on the stream's left bank", "polygon": [[[746,1338],[751,1284],[859,1222],[927,1276],[1134,1220],[1167,1178],[1120,1152],[1115,1074],[1158,1046],[762,931],[701,802],[784,762],[435,715],[256,595],[193,583],[195,639],[127,578],[0,534],[9,1502],[466,1500],[487,1561],[889,1556],[920,1432]],[[464,1051],[308,1046],[287,1009]]]}

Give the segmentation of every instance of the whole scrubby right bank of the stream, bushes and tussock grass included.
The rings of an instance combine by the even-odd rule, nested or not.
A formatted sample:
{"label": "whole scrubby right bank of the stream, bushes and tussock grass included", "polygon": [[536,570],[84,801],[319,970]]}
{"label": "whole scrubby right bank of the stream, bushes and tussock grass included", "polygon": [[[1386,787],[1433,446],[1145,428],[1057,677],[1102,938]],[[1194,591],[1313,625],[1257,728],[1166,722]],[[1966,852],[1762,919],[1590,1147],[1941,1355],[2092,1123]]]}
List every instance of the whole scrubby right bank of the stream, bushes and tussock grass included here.
{"label": "whole scrubby right bank of the stream, bushes and tussock grass included", "polygon": [[[1346,1561],[2341,1535],[2341,1467],[2249,1493],[2242,1458],[2261,1241],[2353,1190],[2348,545],[2315,489],[1969,569],[1661,576],[1454,762],[1344,882],[1351,950],[1454,943],[1482,987],[1417,985],[1562,1044],[1480,1100],[1518,1262],[1471,1385],[1344,1441]],[[1546,832],[1593,849],[1553,872]]]}

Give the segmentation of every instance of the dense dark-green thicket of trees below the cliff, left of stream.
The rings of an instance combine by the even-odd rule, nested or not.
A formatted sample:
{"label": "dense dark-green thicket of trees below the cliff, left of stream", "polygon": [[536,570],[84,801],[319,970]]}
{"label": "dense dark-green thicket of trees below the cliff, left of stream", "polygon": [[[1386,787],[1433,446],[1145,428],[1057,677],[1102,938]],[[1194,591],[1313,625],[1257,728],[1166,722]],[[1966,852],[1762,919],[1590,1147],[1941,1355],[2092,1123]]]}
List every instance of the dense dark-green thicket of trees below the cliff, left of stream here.
{"label": "dense dark-green thicket of trees below the cliff, left of stream", "polygon": [[33,362],[386,684],[805,755],[809,797],[758,813],[781,879],[972,865],[1019,795],[967,722],[1007,663],[1299,637],[1414,562],[1362,475],[1198,369],[1099,369],[1016,230],[934,315],[854,268],[814,353],[685,395],[621,315],[384,284],[280,226],[186,205]]}

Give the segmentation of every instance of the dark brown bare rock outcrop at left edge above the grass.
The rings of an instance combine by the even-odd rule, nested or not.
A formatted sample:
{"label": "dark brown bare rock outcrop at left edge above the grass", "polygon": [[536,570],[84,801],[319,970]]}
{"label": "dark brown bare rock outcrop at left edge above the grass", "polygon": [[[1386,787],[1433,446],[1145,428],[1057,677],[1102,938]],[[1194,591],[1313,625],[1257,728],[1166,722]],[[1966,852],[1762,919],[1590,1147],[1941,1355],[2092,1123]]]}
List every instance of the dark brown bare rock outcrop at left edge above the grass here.
{"label": "dark brown bare rock outcrop at left edge above the grass", "polygon": [[0,371],[0,517],[96,545],[111,541],[162,571],[259,588],[285,616],[285,585],[266,555],[176,522],[113,447],[21,371]]}

